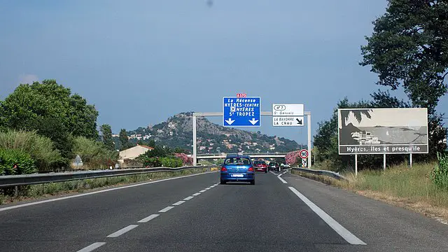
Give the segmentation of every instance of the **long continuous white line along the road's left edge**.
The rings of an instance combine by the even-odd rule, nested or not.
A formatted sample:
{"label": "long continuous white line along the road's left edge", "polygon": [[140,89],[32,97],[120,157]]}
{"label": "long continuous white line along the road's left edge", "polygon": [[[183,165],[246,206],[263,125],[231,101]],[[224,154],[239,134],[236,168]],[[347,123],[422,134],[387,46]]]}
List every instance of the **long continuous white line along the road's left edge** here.
{"label": "long continuous white line along the road's left edge", "polygon": [[148,185],[148,184],[151,184],[151,183],[159,183],[159,182],[163,182],[163,181],[170,181],[170,180],[173,180],[173,179],[183,179],[183,178],[187,178],[187,177],[190,177],[190,176],[200,176],[200,175],[211,174],[211,173],[215,173],[215,172],[204,172],[202,174],[192,174],[192,175],[186,175],[186,176],[177,176],[177,177],[174,177],[174,178],[161,179],[161,180],[158,180],[158,181],[150,181],[150,182],[145,182],[145,183],[139,183],[139,184],[131,185],[131,186],[122,186],[122,187],[119,187],[119,188],[110,188],[110,189],[106,189],[106,190],[98,190],[98,191],[94,191],[94,192],[90,192],[90,193],[81,193],[81,194],[78,194],[78,195],[71,195],[71,196],[66,196],[66,197],[58,197],[56,199],[51,199],[51,200],[42,200],[42,201],[38,201],[38,202],[18,204],[18,205],[11,206],[11,207],[0,208],[0,211],[6,211],[6,210],[10,210],[10,209],[18,209],[20,207],[29,207],[29,206],[33,206],[35,204],[43,204],[43,203],[55,202],[55,201],[59,201],[59,200],[68,200],[68,199],[75,198],[75,197],[83,197],[83,196],[87,196],[87,195],[94,195],[94,194],[97,194],[97,193],[106,193],[106,192],[110,192],[110,191],[113,191],[113,190],[120,190],[120,189],[125,189],[125,188],[133,188],[133,187],[136,187],[136,186],[144,186],[144,185]]}

